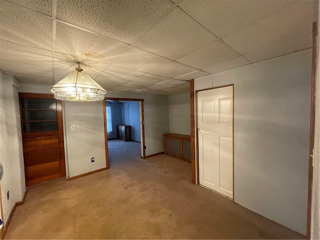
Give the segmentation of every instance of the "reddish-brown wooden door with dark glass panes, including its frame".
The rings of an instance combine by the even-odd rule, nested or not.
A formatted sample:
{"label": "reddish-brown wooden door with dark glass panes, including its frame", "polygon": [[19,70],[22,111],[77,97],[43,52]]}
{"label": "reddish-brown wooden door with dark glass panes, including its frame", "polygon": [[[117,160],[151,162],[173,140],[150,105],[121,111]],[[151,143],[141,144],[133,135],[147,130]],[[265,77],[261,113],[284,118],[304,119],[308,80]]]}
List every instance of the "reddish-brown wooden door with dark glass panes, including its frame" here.
{"label": "reddish-brown wooden door with dark glass panes, including its frame", "polygon": [[61,101],[19,93],[25,185],[65,176]]}

